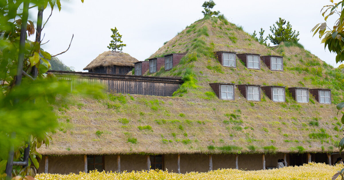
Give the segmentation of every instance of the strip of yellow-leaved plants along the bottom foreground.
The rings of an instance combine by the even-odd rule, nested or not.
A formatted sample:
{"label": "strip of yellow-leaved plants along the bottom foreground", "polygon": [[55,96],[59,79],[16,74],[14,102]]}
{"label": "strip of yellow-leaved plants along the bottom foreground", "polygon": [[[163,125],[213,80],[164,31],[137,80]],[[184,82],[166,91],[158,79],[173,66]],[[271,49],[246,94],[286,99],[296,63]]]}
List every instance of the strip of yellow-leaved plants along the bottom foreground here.
{"label": "strip of yellow-leaved plants along the bottom foreground", "polygon": [[[59,174],[37,174],[37,180],[86,180],[86,179],[111,179],[111,180],[148,180],[148,179],[175,179],[175,180],[194,180],[194,179],[261,179],[261,180],[329,180],[343,165],[329,166],[321,163],[304,164],[299,167],[285,167],[281,169],[243,171],[236,169],[219,169],[210,172],[190,172],[186,174],[177,174],[167,171],[139,171],[139,172],[92,172],[79,174],[71,173],[69,175]],[[340,179],[338,177],[337,179]]]}

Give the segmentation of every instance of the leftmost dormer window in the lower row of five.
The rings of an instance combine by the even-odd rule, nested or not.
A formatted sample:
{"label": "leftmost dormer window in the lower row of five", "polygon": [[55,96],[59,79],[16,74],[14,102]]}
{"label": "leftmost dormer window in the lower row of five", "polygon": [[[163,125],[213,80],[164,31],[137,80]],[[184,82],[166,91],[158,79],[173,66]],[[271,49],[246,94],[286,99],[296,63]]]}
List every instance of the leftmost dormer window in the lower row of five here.
{"label": "leftmost dormer window in the lower row of five", "polygon": [[219,99],[234,100],[234,84],[233,83],[209,83]]}

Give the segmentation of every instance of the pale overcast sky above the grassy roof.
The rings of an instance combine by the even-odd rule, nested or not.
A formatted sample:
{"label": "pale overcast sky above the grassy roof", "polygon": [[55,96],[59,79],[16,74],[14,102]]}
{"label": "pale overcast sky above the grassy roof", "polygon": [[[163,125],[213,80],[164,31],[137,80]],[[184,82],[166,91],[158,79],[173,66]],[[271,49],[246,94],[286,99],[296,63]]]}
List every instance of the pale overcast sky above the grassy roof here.
{"label": "pale overcast sky above the grassy roof", "polygon": [[[204,0],[80,0],[63,1],[62,10],[55,8],[47,22],[43,49],[58,54],[67,66],[82,71],[93,59],[104,51],[111,40],[111,28],[117,27],[122,35],[123,52],[138,60],[144,60],[159,49],[165,41],[198,19]],[[327,0],[215,0],[213,10],[219,10],[227,19],[244,27],[248,33],[262,27],[265,36],[279,17],[290,21],[294,30],[300,31],[300,43],[312,54],[334,67],[335,55],[324,49],[318,36],[310,32],[314,25],[324,22],[320,10],[329,4]],[[36,14],[36,12],[33,12]],[[50,10],[44,11],[44,19]],[[32,15],[36,16],[36,15]],[[329,26],[333,26],[330,19]]]}

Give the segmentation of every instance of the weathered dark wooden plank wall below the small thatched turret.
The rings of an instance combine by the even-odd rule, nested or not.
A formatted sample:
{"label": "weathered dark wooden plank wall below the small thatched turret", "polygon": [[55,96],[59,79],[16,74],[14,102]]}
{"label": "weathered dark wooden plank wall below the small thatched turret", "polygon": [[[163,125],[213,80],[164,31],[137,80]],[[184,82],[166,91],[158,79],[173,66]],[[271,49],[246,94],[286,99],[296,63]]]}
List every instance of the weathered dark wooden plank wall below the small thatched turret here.
{"label": "weathered dark wooden plank wall below the small thatched turret", "polygon": [[123,94],[172,96],[173,92],[183,83],[183,80],[180,78],[111,75],[54,70],[50,70],[48,73],[52,73],[58,78],[71,80],[73,84],[84,82],[90,84],[100,83],[104,85],[108,92]]}

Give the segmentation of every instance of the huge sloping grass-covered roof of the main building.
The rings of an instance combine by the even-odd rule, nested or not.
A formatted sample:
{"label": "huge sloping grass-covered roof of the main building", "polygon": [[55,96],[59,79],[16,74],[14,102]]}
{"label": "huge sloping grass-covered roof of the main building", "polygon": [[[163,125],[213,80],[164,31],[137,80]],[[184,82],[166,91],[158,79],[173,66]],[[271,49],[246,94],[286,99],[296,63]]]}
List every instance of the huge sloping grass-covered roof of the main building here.
{"label": "huge sloping grass-covered roof of the main building", "polygon": [[[284,56],[284,71],[219,64],[213,52]],[[301,153],[337,151],[342,137],[335,103],[344,95],[344,74],[305,50],[282,43],[269,48],[226,19],[206,17],[187,26],[152,57],[187,53],[172,70],[149,76],[183,77],[175,97],[109,94],[106,99],[71,97],[56,107],[61,127],[42,154]],[[332,104],[219,100],[209,83],[332,89]],[[287,91],[288,92],[288,91]]]}

